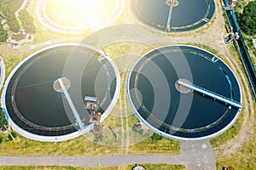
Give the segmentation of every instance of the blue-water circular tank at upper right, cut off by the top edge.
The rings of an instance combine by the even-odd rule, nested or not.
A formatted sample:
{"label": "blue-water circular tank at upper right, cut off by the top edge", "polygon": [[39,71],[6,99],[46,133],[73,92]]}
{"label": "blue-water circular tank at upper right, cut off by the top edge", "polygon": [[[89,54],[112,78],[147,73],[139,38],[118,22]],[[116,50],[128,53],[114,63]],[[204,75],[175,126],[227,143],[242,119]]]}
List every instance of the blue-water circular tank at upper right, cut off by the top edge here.
{"label": "blue-water circular tank at upper right, cut off by the top edge", "polygon": [[215,3],[213,0],[134,0],[131,9],[137,20],[154,29],[190,31],[212,20]]}

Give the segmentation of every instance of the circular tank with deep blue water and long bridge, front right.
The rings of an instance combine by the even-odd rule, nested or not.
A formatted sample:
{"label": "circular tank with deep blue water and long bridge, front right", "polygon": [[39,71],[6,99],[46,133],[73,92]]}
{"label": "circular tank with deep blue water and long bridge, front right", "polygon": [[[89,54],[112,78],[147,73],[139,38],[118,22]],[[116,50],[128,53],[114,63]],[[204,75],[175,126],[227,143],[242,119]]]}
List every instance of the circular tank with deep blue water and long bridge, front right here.
{"label": "circular tank with deep blue water and long bridge, front right", "polygon": [[172,139],[216,136],[241,111],[235,74],[218,56],[201,48],[155,48],[137,60],[127,83],[129,101],[139,119]]}

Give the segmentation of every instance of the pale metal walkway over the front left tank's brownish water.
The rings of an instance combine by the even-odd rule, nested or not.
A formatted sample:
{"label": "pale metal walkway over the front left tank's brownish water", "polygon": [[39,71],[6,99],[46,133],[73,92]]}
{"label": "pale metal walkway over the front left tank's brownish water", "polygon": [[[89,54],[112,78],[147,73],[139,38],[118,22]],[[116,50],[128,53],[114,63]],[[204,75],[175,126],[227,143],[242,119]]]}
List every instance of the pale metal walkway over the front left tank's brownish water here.
{"label": "pale metal walkway over the front left tank's brownish water", "polygon": [[73,111],[73,115],[75,116],[75,119],[76,119],[76,121],[78,122],[80,129],[84,129],[84,123],[81,121],[80,116],[79,116],[79,113],[78,113],[78,111],[76,110],[75,106],[73,105],[73,101],[72,101],[72,99],[70,98],[70,95],[67,93],[67,89],[66,89],[64,83],[62,82],[62,78],[59,78],[59,79],[58,79],[58,82],[59,82],[60,85],[61,85],[61,89],[62,89],[62,91],[63,91],[63,93],[64,93],[64,95],[65,95],[65,97],[66,97],[66,99],[67,99],[67,102],[68,102],[68,104],[69,104],[71,110]]}

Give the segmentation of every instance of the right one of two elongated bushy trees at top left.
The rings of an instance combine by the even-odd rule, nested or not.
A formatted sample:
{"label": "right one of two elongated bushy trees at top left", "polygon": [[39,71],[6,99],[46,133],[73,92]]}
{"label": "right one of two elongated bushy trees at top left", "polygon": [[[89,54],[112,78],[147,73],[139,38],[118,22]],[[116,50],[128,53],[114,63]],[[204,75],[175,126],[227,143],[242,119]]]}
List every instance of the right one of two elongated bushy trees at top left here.
{"label": "right one of two elongated bushy trees at top left", "polygon": [[32,16],[27,13],[26,9],[20,10],[19,19],[20,19],[22,26],[26,32],[29,32],[29,33],[36,32],[36,26],[34,25],[34,20],[33,20]]}

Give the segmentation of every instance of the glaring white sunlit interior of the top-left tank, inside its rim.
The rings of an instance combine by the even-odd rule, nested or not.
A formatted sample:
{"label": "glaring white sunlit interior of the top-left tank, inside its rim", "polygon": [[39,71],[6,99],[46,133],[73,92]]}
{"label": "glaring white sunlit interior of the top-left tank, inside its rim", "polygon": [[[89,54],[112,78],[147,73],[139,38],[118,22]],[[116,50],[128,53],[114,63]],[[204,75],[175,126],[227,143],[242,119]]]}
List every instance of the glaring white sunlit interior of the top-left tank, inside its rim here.
{"label": "glaring white sunlit interior of the top-left tank, inside its rim", "polygon": [[112,13],[116,0],[49,0],[46,14],[62,26],[96,26]]}

